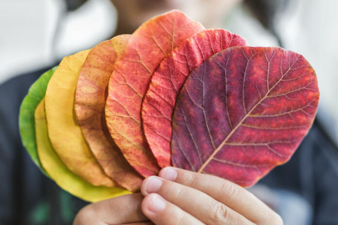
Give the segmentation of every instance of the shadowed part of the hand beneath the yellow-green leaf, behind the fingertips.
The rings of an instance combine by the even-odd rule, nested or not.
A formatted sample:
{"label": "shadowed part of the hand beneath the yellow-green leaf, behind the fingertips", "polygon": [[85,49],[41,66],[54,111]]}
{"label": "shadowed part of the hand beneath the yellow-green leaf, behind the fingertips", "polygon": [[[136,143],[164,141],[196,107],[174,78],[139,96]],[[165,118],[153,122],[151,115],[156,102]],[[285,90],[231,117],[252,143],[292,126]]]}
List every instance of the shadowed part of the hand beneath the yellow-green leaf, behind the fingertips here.
{"label": "shadowed part of the hand beneath the yellow-green leaf, behind the fingertips", "polygon": [[73,225],[116,225],[149,221],[141,210],[142,199],[142,194],[136,193],[92,203],[78,212]]}

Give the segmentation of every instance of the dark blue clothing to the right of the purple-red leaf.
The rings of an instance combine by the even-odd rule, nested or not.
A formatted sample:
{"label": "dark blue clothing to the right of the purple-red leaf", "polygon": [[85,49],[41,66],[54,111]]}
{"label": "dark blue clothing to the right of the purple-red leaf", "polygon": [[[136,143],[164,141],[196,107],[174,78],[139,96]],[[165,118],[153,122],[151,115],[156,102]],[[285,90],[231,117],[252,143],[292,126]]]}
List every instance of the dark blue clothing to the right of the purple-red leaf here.
{"label": "dark blue clothing to the right of the purple-red leaf", "polygon": [[338,149],[323,133],[315,121],[290,161],[260,183],[303,196],[313,207],[313,224],[338,225]]}

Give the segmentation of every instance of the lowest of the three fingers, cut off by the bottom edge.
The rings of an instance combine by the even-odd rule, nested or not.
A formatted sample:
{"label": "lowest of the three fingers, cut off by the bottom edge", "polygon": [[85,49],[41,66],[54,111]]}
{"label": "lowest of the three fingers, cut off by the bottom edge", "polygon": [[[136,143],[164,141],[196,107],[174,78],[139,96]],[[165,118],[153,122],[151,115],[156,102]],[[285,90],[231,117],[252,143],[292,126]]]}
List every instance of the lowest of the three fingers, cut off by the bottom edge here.
{"label": "lowest of the three fingers, cut off by the bottom edge", "polygon": [[195,217],[156,193],[144,198],[142,211],[155,225],[203,225]]}

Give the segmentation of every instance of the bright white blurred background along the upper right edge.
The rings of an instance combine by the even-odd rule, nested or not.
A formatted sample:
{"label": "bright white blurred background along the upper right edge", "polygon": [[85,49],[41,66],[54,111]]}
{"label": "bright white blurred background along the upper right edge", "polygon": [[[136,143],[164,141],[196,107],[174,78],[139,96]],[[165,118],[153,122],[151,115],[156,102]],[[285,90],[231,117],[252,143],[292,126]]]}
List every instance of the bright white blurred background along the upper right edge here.
{"label": "bright white blurred background along the upper right edge", "polygon": [[338,145],[338,0],[299,0],[294,6],[278,30],[286,48],[304,55],[316,70],[319,118]]}

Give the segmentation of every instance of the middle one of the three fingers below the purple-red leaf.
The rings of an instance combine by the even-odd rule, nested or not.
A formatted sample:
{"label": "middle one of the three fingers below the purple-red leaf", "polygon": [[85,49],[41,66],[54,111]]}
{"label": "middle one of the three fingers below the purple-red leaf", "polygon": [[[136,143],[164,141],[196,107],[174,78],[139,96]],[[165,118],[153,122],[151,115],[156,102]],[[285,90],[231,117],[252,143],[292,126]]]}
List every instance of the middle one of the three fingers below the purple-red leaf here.
{"label": "middle one of the three fingers below the purple-red leaf", "polygon": [[244,216],[209,195],[160,177],[146,178],[141,186],[141,192],[145,196],[158,193],[205,224],[253,225]]}

